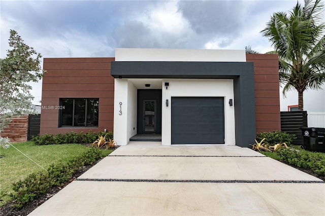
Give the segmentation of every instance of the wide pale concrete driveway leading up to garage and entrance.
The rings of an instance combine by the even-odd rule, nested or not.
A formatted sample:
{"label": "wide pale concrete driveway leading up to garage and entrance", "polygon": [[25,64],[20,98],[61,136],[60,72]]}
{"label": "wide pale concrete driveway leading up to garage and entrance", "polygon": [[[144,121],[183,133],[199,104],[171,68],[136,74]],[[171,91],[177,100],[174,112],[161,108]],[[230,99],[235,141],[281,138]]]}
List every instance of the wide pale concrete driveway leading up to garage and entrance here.
{"label": "wide pale concrete driveway leading up to garage and entrance", "polygon": [[325,215],[325,184],[247,148],[130,142],[30,215]]}

